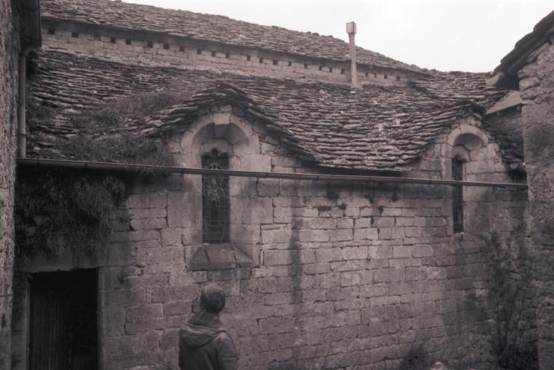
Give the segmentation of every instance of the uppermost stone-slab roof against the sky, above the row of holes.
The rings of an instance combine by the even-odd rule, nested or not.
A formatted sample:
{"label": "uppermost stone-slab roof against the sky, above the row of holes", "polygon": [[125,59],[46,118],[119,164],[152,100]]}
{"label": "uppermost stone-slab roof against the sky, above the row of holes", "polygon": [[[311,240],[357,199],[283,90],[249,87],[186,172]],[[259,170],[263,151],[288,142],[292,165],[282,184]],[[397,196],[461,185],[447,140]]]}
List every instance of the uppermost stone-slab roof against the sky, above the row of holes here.
{"label": "uppermost stone-slab roof against the sky, above the row of holes", "polygon": [[[125,30],[217,41],[339,61],[350,60],[348,44],[331,36],[261,26],[219,15],[200,14],[109,0],[41,0],[44,19],[78,21]],[[427,73],[379,53],[357,48],[361,64]]]}

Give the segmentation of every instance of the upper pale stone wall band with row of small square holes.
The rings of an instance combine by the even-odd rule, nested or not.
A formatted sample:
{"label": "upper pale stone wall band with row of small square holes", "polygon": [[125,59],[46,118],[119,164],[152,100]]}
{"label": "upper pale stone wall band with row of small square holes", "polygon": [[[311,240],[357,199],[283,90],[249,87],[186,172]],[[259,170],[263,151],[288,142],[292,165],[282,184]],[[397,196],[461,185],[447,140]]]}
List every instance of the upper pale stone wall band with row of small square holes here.
{"label": "upper pale stone wall band with row of small square holes", "polygon": [[[115,30],[72,22],[43,21],[43,48],[147,66],[210,68],[272,77],[348,82],[350,62],[260,50],[237,45]],[[358,66],[358,81],[404,84],[415,73]]]}

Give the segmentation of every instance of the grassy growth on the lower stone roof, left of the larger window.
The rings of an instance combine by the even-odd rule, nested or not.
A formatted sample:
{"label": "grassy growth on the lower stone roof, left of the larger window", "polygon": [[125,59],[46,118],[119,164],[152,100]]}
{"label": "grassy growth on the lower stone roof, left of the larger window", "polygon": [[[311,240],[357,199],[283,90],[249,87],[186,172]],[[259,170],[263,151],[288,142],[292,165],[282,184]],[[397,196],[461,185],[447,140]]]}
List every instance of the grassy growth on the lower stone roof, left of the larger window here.
{"label": "grassy growth on the lower stone roof, left of the larger window", "polygon": [[[186,98],[177,91],[136,93],[111,99],[67,115],[64,126],[73,127],[71,135],[57,135],[53,147],[67,158],[111,163],[173,165],[164,150],[163,138],[145,136],[141,129],[150,115],[163,111]],[[27,102],[30,131],[37,122],[56,122],[57,109]],[[137,122],[142,122],[137,124]],[[138,125],[138,127],[137,127]]]}

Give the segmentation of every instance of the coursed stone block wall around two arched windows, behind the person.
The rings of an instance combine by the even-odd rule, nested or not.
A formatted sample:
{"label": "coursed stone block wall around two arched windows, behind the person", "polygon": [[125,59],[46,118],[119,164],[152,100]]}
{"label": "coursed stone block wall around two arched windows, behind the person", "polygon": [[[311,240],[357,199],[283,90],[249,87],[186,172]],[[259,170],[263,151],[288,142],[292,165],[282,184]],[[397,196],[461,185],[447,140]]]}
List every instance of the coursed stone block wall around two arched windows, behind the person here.
{"label": "coursed stone block wall around two arched windows, behind the person", "polygon": [[[467,178],[510,181],[473,118],[439,138],[408,175],[448,178],[463,134],[481,140],[465,144]],[[214,107],[167,145],[179,165],[196,167],[216,147],[231,156],[231,169],[315,171],[233,107]],[[105,369],[176,368],[179,327],[208,281],[229,297],[222,320],[241,369],[390,368],[417,344],[442,358],[488,358],[480,237],[506,223],[517,229],[526,194],[465,189],[467,229],[453,234],[449,187],[230,181],[229,248],[202,246],[199,176],[166,176],[136,183],[127,219],[114,219],[97,261],[27,261],[28,272],[99,268]],[[498,221],[480,222],[491,214]],[[202,248],[210,258],[198,268]]]}

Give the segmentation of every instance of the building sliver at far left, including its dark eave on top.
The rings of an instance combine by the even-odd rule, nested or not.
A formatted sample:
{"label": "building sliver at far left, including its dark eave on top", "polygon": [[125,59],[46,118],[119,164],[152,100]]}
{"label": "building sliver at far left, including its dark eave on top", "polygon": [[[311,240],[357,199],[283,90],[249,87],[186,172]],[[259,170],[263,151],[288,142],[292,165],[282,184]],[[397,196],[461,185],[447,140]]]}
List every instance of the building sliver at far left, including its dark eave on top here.
{"label": "building sliver at far left, including its dark eave on top", "polygon": [[18,65],[22,51],[40,44],[37,3],[2,0],[0,19],[0,368],[9,369]]}

